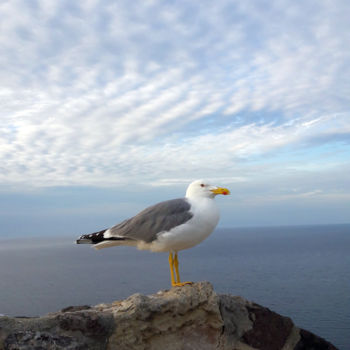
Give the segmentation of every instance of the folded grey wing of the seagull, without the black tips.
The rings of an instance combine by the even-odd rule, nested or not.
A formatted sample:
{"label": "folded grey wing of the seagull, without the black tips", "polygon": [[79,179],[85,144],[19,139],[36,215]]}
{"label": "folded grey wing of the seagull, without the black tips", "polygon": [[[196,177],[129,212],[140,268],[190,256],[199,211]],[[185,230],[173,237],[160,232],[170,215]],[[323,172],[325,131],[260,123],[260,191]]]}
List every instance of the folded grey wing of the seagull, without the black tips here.
{"label": "folded grey wing of the seagull, without the black tips", "polygon": [[141,211],[136,216],[109,229],[112,237],[125,237],[147,243],[158,233],[169,231],[193,217],[191,205],[186,198],[160,202]]}

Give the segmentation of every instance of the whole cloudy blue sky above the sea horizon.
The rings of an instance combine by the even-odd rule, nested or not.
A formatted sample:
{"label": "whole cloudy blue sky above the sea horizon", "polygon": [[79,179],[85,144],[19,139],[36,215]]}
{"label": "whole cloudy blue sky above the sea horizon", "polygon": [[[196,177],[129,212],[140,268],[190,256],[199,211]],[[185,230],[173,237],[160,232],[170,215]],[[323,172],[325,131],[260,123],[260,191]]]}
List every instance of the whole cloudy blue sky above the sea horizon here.
{"label": "whole cloudy blue sky above the sea horizon", "polygon": [[228,187],[221,226],[348,223],[347,0],[0,3],[0,236]]}

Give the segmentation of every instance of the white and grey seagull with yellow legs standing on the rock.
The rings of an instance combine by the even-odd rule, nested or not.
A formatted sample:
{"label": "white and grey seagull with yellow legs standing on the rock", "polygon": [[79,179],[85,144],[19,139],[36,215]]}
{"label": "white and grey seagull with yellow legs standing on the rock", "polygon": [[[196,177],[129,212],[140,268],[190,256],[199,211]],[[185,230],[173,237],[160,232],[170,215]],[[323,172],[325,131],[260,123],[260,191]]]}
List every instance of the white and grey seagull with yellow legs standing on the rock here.
{"label": "white and grey seagull with yellow legs standing on the rock", "polygon": [[171,285],[192,283],[180,280],[178,252],[194,247],[213,232],[220,217],[214,200],[218,194],[228,195],[230,191],[205,180],[193,181],[184,198],[157,203],[111,228],[82,235],[76,243],[93,244],[96,249],[133,246],[168,252]]}

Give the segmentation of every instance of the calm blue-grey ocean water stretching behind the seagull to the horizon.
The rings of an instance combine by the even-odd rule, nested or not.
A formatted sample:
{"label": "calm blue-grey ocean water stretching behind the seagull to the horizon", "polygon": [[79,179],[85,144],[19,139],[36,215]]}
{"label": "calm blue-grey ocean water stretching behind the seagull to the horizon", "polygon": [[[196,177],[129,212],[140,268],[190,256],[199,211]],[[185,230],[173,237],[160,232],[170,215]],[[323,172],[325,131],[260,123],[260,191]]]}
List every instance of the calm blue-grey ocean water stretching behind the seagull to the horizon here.
{"label": "calm blue-grey ocean water stretching behind the seagull to the horizon", "polygon": [[[0,240],[0,314],[37,316],[169,288],[167,254],[96,251],[75,238]],[[350,225],[217,229],[179,261],[182,280],[210,281],[350,349]]]}

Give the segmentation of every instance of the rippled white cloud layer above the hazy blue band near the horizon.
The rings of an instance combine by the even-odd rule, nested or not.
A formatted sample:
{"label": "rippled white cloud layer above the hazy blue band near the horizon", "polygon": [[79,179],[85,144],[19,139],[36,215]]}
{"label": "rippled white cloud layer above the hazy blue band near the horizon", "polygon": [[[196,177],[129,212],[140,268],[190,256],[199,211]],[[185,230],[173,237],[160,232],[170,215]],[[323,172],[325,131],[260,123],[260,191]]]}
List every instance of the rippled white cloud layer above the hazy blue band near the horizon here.
{"label": "rippled white cloud layer above the hazy blue band near the horizon", "polygon": [[235,183],[348,152],[345,1],[31,4],[1,5],[3,185]]}

